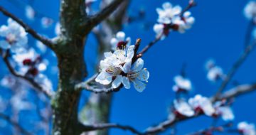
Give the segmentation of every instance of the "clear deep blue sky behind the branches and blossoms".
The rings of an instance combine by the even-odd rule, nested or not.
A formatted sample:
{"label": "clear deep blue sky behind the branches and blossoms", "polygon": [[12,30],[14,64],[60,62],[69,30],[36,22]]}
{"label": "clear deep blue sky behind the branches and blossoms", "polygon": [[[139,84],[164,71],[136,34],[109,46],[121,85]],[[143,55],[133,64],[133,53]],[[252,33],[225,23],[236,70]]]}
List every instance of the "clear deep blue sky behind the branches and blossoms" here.
{"label": "clear deep blue sky behind the branches and blossoms", "polygon": [[[134,13],[140,8],[144,8],[146,21],[156,22],[157,13],[155,9],[161,7],[164,1],[166,0],[134,0],[130,5],[129,12]],[[170,2],[183,7],[187,4],[187,0],[171,0]],[[243,49],[248,24],[243,16],[243,8],[247,1],[198,0],[197,3],[198,6],[191,10],[192,15],[196,18],[196,23],[191,30],[184,34],[171,33],[166,40],[157,43],[144,55],[144,65],[150,72],[146,90],[139,93],[132,88],[114,94],[110,121],[132,125],[139,130],[144,130],[146,127],[166,119],[167,110],[174,99],[174,92],[171,90],[174,85],[173,77],[178,75],[183,63],[187,64],[186,72],[193,82],[191,96],[198,93],[204,96],[215,94],[220,83],[213,84],[206,80],[204,63],[208,58],[213,58],[227,72],[235,60],[238,59]],[[50,37],[54,36],[54,27],[43,30],[37,21],[37,23],[31,22],[24,17],[23,9],[17,9],[8,1],[0,1],[0,4],[23,18],[24,21],[41,33]],[[54,18],[56,21],[58,20],[59,1],[35,0],[33,6],[37,11]],[[6,18],[0,15],[0,24],[2,23],[6,23]],[[142,38],[142,46],[154,39],[152,28],[144,31],[142,23],[132,23],[129,26],[124,26],[124,32],[132,38],[132,41],[135,41],[136,38]],[[31,38],[30,43],[33,43]],[[92,35],[90,35],[85,49],[87,64],[94,63],[97,45]],[[235,80],[238,80],[240,84],[256,81],[255,58],[256,51],[252,52],[250,58],[236,73]],[[55,63],[55,59],[51,61]],[[1,70],[6,71],[1,63]],[[88,68],[90,75],[92,75],[93,65],[88,65]],[[4,75],[3,72],[1,72],[1,77],[2,75]],[[52,75],[52,78],[56,77],[56,75]],[[56,79],[53,79],[53,82],[56,86]],[[232,87],[232,85],[229,87]],[[84,94],[85,97],[87,95],[88,93]],[[251,93],[236,99],[233,105],[235,122],[249,121],[256,123],[256,108],[253,105],[256,102],[255,96],[256,93]],[[206,117],[185,121],[177,125],[177,134],[187,134],[191,131],[206,128],[211,124],[211,121],[212,119]],[[130,133],[129,131],[111,130],[111,134]],[[164,134],[169,133],[165,132]]]}

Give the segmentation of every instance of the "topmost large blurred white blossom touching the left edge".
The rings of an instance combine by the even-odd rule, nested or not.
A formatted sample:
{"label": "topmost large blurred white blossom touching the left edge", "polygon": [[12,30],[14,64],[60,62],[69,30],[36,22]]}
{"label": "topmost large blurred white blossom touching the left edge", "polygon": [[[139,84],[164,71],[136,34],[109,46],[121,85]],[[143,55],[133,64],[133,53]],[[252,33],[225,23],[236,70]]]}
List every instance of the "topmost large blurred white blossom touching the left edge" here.
{"label": "topmost large blurred white blossom touching the left edge", "polygon": [[[16,21],[8,19],[8,26],[0,27],[0,48],[10,49],[13,53],[23,50],[28,43],[27,33]],[[4,39],[1,39],[4,38]]]}

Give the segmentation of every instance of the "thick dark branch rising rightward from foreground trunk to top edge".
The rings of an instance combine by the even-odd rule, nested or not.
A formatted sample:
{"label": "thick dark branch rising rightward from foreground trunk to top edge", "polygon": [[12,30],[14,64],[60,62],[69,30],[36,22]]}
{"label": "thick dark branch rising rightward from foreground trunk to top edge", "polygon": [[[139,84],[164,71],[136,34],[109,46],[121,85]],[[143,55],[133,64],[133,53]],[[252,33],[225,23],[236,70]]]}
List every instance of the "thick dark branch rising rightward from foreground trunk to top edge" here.
{"label": "thick dark branch rising rightward from foreground trunk to top edge", "polygon": [[110,14],[113,13],[118,8],[118,6],[122,4],[123,1],[124,0],[114,0],[111,4],[102,9],[102,11],[95,14],[94,16],[89,17],[87,21],[85,21],[85,23],[82,25],[84,26],[86,33],[89,33],[92,28],[110,16]]}

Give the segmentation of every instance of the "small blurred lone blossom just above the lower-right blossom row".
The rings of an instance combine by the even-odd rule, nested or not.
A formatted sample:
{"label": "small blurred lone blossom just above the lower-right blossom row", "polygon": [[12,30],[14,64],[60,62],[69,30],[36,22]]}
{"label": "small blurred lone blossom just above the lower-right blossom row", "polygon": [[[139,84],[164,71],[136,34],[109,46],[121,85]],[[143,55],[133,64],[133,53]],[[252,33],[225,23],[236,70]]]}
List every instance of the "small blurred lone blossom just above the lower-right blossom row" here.
{"label": "small blurred lone blossom just above the lower-right blossom row", "polygon": [[173,87],[174,92],[188,92],[192,89],[191,80],[188,80],[181,75],[174,77],[175,85]]}

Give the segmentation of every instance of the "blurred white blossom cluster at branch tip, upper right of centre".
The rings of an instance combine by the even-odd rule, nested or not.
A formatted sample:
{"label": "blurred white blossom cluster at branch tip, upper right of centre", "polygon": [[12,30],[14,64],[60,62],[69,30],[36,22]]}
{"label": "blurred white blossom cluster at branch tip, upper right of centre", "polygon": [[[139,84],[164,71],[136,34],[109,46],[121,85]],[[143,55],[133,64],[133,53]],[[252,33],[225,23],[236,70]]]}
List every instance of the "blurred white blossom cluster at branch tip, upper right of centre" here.
{"label": "blurred white blossom cluster at branch tip, upper right of centre", "polygon": [[159,14],[158,23],[154,25],[157,38],[164,39],[170,31],[185,33],[195,22],[190,11],[182,11],[181,6],[173,6],[169,2],[165,2],[162,9],[157,8],[156,12]]}

